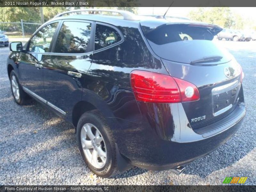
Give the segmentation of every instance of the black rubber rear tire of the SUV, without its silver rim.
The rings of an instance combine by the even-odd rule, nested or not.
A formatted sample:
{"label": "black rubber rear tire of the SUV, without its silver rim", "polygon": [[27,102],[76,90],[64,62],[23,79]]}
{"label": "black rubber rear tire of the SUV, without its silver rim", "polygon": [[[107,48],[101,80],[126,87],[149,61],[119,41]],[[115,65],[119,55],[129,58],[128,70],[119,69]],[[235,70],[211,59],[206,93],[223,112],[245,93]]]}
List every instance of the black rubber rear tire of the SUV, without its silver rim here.
{"label": "black rubber rear tire of the SUV, without its silver rim", "polygon": [[[84,154],[84,150],[82,148],[81,130],[84,124],[86,123],[95,125],[97,129],[100,131],[101,137],[104,139],[104,142],[105,142],[107,158],[106,158],[105,166],[102,167],[101,169],[97,169],[87,160]],[[102,114],[98,110],[91,110],[91,111],[85,112],[80,117],[77,124],[76,139],[78,142],[80,153],[84,159],[84,162],[93,173],[95,173],[100,177],[109,178],[114,176],[118,172],[115,139],[110,127],[107,124],[106,119],[102,116]]]}

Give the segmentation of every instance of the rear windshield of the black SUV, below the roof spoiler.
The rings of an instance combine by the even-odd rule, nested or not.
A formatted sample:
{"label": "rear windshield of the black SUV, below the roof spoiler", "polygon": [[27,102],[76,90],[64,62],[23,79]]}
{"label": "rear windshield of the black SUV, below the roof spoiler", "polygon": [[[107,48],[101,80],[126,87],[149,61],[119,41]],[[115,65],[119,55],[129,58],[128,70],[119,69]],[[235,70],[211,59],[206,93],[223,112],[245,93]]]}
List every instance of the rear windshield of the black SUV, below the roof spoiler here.
{"label": "rear windshield of the black SUV, below the roof spoiler", "polygon": [[214,35],[210,27],[190,24],[162,25],[145,34],[153,51],[163,59],[190,64],[218,57],[210,64],[228,62],[228,53],[215,43]]}

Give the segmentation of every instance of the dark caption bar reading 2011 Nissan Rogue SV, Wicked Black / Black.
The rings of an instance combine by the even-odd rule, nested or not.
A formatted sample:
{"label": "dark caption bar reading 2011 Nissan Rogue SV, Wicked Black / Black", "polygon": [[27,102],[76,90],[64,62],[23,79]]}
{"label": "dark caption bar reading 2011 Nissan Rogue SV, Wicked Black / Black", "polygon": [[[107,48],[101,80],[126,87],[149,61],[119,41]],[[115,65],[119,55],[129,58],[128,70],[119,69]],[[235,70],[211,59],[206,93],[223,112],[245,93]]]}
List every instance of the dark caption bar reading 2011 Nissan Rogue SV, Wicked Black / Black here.
{"label": "dark caption bar reading 2011 Nissan Rogue SV, Wicked Black / Black", "polygon": [[[172,3],[173,2],[173,3]],[[252,0],[0,0],[1,7],[255,7]]]}

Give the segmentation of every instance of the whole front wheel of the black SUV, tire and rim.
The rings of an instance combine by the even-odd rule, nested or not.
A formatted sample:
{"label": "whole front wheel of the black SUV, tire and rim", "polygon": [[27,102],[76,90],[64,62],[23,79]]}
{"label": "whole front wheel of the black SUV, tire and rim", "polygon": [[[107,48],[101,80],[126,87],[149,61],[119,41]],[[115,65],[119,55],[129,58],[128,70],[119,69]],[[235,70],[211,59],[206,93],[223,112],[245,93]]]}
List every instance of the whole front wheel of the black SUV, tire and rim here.
{"label": "whole front wheel of the black SUV, tire and rim", "polygon": [[18,103],[19,105],[27,104],[30,98],[28,94],[23,91],[14,70],[12,70],[10,73],[10,81],[11,81],[12,96],[15,102]]}

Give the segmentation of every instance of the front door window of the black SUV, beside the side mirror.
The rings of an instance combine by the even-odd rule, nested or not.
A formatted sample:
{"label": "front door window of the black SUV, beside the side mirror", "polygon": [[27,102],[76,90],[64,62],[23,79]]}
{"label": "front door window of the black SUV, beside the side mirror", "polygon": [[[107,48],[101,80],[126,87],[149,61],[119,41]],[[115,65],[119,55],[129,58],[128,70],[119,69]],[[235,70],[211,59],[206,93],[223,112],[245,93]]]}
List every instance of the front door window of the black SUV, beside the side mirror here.
{"label": "front door window of the black SUV, beside the side mirror", "polygon": [[52,42],[52,37],[56,28],[57,23],[52,23],[42,28],[38,33],[31,39],[29,43],[29,51],[31,52],[49,52],[49,47]]}

